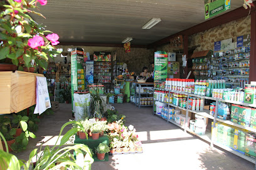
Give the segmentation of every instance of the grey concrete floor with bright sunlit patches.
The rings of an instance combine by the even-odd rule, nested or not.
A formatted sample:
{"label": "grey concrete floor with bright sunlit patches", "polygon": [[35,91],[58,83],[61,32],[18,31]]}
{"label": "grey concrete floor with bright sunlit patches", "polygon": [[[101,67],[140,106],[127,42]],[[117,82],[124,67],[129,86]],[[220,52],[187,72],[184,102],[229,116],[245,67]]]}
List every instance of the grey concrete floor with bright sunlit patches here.
{"label": "grey concrete floor with bright sunlit patches", "polygon": [[[184,133],[177,126],[152,115],[152,108],[137,108],[134,104],[114,104],[126,116],[126,126],[132,124],[139,134],[143,154],[110,156],[108,162],[95,162],[93,170],[107,169],[254,169],[254,164],[228,151],[211,149],[208,143]],[[60,104],[60,111],[41,119],[38,138],[29,140],[26,151],[15,154],[27,160],[34,148],[53,145],[62,124],[71,117],[71,104]],[[65,132],[68,128],[65,129]]]}

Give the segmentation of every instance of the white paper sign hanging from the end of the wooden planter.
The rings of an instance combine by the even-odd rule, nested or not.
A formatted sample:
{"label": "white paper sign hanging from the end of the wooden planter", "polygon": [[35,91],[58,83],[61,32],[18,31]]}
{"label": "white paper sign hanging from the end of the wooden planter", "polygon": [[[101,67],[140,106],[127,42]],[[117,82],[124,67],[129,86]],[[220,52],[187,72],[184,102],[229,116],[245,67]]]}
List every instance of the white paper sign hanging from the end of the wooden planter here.
{"label": "white paper sign hanging from the end of the wooden planter", "polygon": [[36,108],[34,114],[41,114],[51,108],[48,86],[45,77],[36,77]]}

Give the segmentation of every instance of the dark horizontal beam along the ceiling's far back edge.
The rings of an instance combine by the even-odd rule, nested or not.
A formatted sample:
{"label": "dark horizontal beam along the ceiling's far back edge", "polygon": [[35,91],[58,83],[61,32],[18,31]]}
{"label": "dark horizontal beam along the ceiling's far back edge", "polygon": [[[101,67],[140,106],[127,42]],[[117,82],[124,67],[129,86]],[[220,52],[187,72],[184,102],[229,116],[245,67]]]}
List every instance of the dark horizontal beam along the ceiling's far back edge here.
{"label": "dark horizontal beam along the ceiling's far back edge", "polygon": [[[104,44],[104,43],[90,43],[90,42],[60,42],[60,46],[90,46],[90,47],[124,47],[124,44]],[[134,45],[134,48],[147,48],[147,45]]]}

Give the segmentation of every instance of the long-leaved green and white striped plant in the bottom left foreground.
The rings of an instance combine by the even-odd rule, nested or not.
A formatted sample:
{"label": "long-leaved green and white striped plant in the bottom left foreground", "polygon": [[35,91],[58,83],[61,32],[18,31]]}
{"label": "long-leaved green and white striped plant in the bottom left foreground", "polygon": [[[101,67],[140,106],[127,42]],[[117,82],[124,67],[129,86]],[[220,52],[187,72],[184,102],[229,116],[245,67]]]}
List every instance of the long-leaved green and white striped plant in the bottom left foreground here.
{"label": "long-leaved green and white striped plant in the bottom left foreground", "polygon": [[[66,147],[62,147],[65,143],[67,143],[68,139],[74,134],[77,133],[77,131],[84,131],[83,128],[72,128],[67,133],[64,134],[63,138],[60,140],[60,144],[56,145],[60,139],[61,133],[63,129],[68,126],[69,124],[77,124],[77,127],[82,127],[82,124],[70,121],[68,123],[63,124],[63,126],[60,129],[60,134],[58,136],[58,139],[55,143],[55,145],[50,148],[49,146],[46,146],[43,151],[38,152],[38,149],[34,149],[29,154],[28,161],[19,160],[14,156],[13,154],[10,154],[8,149],[6,152],[0,150],[0,164],[3,165],[3,169],[21,169],[21,167],[24,168],[24,170],[28,170],[29,166],[31,165],[32,158],[36,156],[36,164],[35,164],[35,170],[39,169],[60,169],[61,167],[64,167],[65,169],[90,169],[91,164],[93,163],[92,159],[92,153],[90,152],[90,149],[85,146],[84,144],[74,144]],[[1,138],[4,140],[4,144],[6,148],[8,148],[6,140],[4,139],[3,134],[0,133]],[[77,155],[77,158],[80,157],[82,161],[77,161],[73,154],[71,152],[74,152]],[[83,156],[83,153],[86,153],[85,156]],[[80,160],[81,160],[80,159]]]}

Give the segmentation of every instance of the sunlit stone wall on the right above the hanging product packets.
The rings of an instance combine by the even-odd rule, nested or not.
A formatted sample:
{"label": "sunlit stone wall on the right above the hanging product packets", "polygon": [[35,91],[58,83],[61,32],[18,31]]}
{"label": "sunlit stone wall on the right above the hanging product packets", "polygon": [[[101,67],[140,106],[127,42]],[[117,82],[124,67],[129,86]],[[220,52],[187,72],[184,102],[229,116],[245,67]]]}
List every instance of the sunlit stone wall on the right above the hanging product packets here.
{"label": "sunlit stone wall on the right above the hanging product packets", "polygon": [[237,42],[238,36],[250,34],[250,16],[216,26],[188,37],[188,47],[198,46],[195,51],[213,50],[214,42],[232,38]]}

